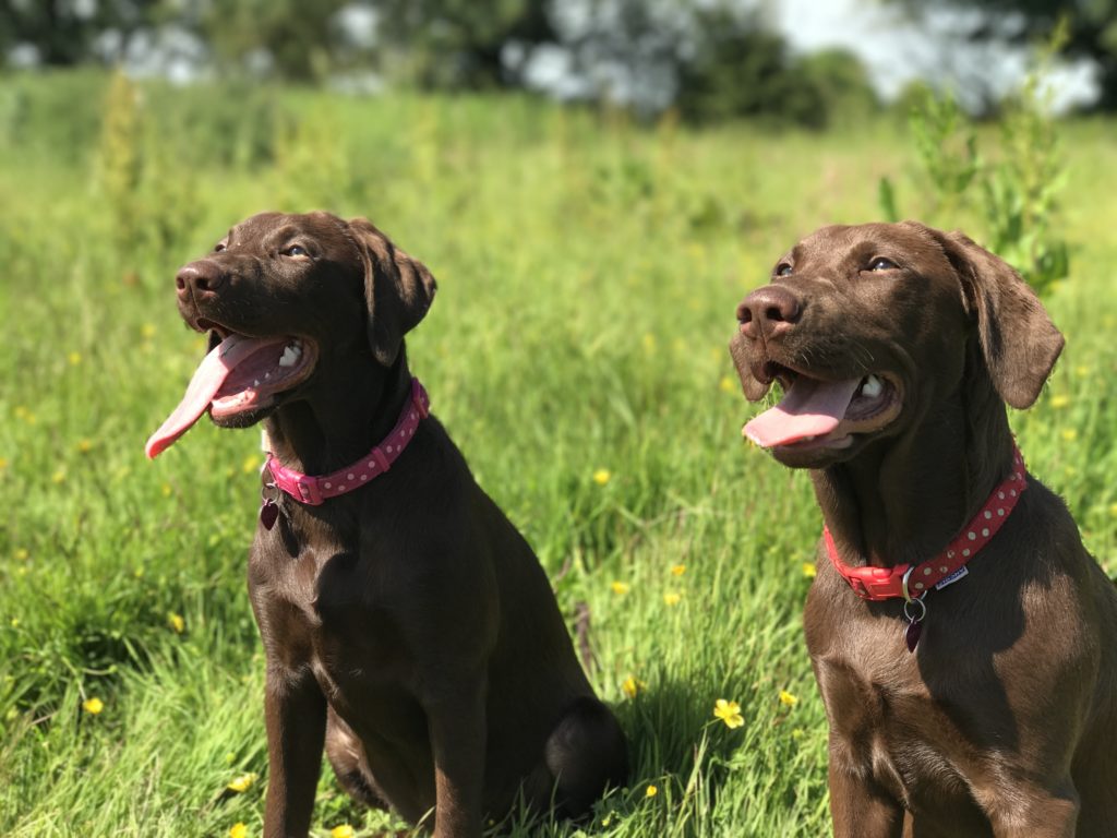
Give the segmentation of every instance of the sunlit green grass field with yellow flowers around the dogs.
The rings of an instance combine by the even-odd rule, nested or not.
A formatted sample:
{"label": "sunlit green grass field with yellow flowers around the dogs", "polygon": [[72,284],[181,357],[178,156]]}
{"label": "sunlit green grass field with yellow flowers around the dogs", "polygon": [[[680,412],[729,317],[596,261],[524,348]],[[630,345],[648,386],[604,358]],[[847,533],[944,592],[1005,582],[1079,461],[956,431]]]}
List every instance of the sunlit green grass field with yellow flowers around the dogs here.
{"label": "sunlit green grass field with yellow flowers around the dogs", "polygon": [[[592,615],[631,782],[580,828],[512,832],[827,834],[801,638],[820,518],[805,474],[742,444],[754,409],[725,346],[798,236],[877,217],[879,177],[918,212],[904,126],[693,133],[526,98],[139,93],[132,109],[99,76],[0,78],[0,834],[259,835],[258,435],[200,423],[154,464],[142,448],[203,352],[175,268],[245,216],[313,208],[369,216],[438,277],[412,368],[564,612]],[[1062,130],[1072,276],[1048,304],[1068,346],[1013,426],[1117,573],[1113,130]],[[317,799],[319,836],[392,823],[328,768]]]}

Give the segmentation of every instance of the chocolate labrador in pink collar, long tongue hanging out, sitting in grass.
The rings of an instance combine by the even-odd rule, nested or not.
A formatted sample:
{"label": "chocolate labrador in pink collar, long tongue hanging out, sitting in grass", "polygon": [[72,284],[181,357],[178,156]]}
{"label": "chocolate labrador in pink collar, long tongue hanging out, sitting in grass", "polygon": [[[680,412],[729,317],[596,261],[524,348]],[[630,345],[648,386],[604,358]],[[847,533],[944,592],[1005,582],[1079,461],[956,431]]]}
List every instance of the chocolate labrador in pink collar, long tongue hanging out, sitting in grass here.
{"label": "chocolate labrador in pink collar, long tongue hanging out, sitting in grass", "polygon": [[248,570],[265,835],[307,834],[323,745],[350,793],[433,811],[440,838],[479,836],[518,796],[576,816],[621,784],[623,734],[543,569],[408,370],[430,273],[364,219],[262,213],[176,285],[211,351],[149,456],[206,411],[270,441]]}

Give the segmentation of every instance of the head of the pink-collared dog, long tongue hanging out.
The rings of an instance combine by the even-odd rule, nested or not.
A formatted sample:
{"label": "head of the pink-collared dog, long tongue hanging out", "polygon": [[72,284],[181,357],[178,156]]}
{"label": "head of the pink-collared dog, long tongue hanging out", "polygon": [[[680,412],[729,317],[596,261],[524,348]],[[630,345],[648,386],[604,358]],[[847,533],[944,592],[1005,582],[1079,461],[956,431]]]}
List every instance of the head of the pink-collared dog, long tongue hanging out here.
{"label": "head of the pink-collared dog, long tongue hanging out", "polygon": [[210,352],[179,408],[147,442],[171,445],[209,410],[245,427],[299,398],[325,363],[390,368],[436,283],[363,218],[265,212],[233,227],[175,277],[179,312]]}

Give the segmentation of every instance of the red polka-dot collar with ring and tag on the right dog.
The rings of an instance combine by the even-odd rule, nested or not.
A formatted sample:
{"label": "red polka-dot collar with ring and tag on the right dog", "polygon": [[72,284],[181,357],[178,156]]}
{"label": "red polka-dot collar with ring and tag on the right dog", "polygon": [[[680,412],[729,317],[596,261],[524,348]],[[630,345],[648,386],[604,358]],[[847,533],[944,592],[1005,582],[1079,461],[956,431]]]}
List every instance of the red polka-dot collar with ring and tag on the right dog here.
{"label": "red polka-dot collar with ring and tag on the right dog", "polygon": [[[954,541],[933,559],[916,565],[853,568],[842,562],[841,556],[838,555],[838,549],[834,546],[833,537],[830,535],[830,530],[823,526],[822,536],[830,563],[861,599],[875,601],[904,599],[905,613],[910,621],[908,649],[914,650],[919,637],[916,629],[927,613],[923,597],[933,588],[945,588],[966,575],[966,562],[973,559],[996,535],[997,530],[1008,521],[1015,507],[1021,493],[1028,487],[1027,474],[1024,459],[1020,455],[1020,449],[1013,444],[1011,474],[993,489],[985,505],[962,528]],[[913,604],[916,607],[915,611],[909,611],[909,606]]]}

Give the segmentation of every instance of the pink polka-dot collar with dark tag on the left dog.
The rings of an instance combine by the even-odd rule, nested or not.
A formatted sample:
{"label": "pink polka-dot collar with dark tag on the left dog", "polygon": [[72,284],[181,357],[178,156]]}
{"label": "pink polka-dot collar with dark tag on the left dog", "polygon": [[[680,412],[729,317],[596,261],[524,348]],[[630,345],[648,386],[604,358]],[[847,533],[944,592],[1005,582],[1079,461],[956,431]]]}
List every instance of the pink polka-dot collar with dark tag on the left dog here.
{"label": "pink polka-dot collar with dark tag on the left dog", "polygon": [[[374,477],[391,468],[392,463],[403,454],[408,442],[414,437],[419,422],[430,412],[430,398],[419,379],[411,379],[411,398],[403,404],[400,419],[380,445],[347,468],[341,468],[327,475],[313,477],[287,468],[268,451],[265,468],[270,473],[273,483],[265,487],[279,488],[299,503],[318,506],[331,497],[344,495],[346,492],[361,488]],[[279,507],[275,498],[265,497],[260,507],[260,521],[268,530],[275,524]]]}

